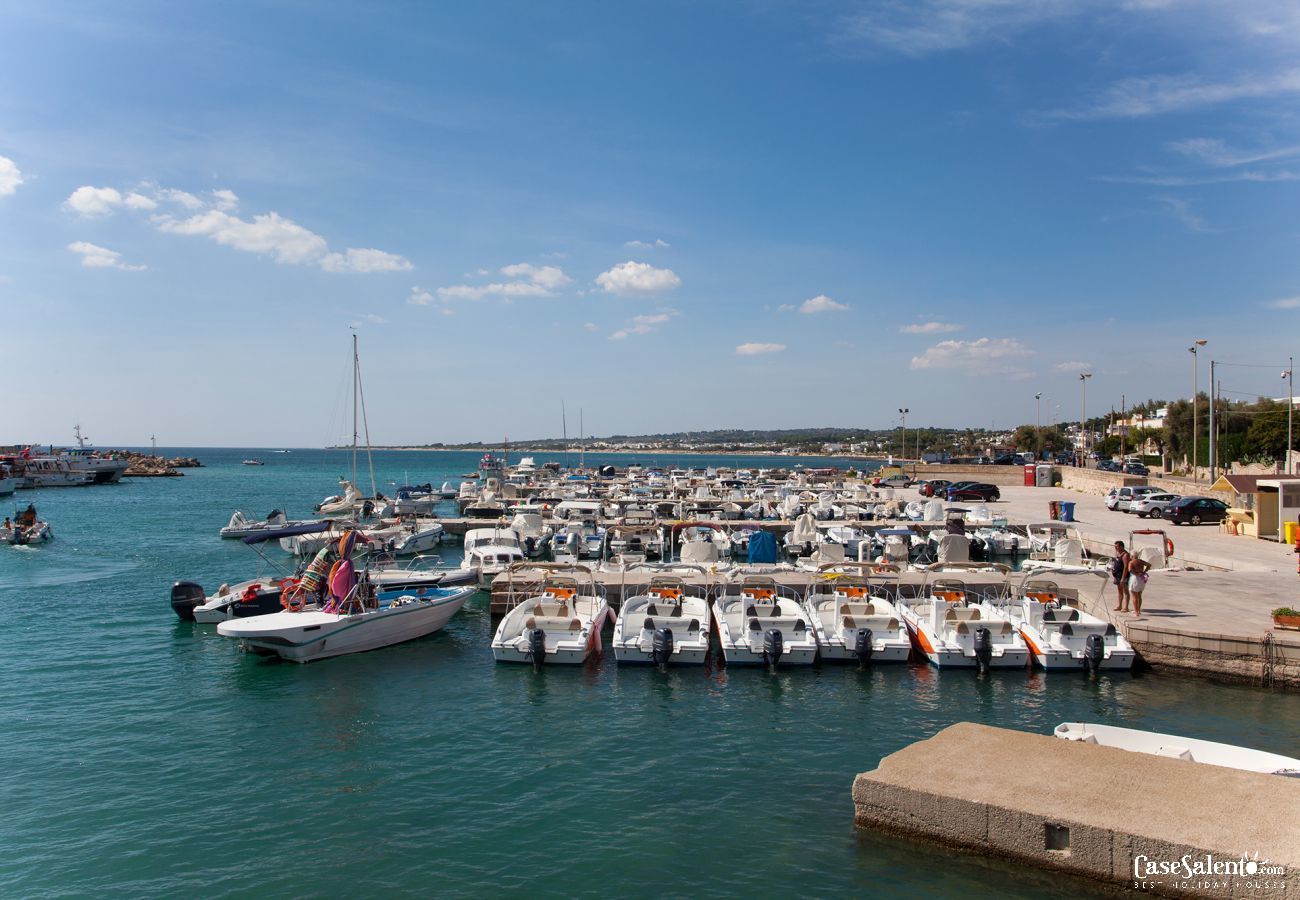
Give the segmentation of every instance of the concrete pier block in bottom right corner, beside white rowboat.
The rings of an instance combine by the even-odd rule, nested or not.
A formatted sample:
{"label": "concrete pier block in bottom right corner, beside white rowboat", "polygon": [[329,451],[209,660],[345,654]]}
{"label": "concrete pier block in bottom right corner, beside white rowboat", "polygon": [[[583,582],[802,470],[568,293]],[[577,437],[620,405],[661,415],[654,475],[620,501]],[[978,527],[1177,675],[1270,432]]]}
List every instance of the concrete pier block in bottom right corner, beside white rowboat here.
{"label": "concrete pier block in bottom right corner, beside white rowboat", "polygon": [[[853,804],[861,827],[1117,888],[1280,899],[1300,877],[1300,779],[970,722],[858,775]],[[1254,862],[1253,874],[1243,856]],[[1196,874],[1206,857],[1247,874]]]}

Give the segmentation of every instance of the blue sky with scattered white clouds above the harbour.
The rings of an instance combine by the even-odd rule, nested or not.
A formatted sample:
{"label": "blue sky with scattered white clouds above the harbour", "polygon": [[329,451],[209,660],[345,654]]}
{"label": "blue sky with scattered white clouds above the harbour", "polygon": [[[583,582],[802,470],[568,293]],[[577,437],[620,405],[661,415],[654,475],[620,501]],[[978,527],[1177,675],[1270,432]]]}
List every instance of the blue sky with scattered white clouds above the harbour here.
{"label": "blue sky with scattered white clouds above the harbour", "polygon": [[1286,395],[1297,200],[1291,0],[10,0],[0,442]]}

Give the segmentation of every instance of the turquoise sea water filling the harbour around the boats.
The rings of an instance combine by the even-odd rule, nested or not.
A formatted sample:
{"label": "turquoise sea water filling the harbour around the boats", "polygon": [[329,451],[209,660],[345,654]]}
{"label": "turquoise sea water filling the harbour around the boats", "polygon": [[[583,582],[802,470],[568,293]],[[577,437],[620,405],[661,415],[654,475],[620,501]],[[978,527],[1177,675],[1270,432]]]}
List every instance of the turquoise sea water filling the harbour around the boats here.
{"label": "turquoise sea water filling the harbour around the boats", "polygon": [[[242,654],[177,620],[172,581],[257,574],[216,536],[231,510],[306,516],[350,462],[185,453],[207,467],[14,497],[57,538],[0,548],[3,896],[1079,896],[1093,888],[857,831],[854,774],[959,721],[1300,748],[1300,696],[1167,675],[659,675],[612,655],[534,675],[493,662],[485,596],[386,650]],[[441,484],[476,458],[377,453],[376,475]]]}

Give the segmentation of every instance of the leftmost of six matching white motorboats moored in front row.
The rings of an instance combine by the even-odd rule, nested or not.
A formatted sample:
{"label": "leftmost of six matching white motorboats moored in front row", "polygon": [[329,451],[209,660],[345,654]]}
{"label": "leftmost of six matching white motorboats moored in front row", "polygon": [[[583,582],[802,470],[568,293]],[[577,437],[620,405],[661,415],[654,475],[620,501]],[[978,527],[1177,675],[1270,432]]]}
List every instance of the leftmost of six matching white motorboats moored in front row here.
{"label": "leftmost of six matching white motorboats moored in front row", "polygon": [[[519,602],[497,626],[491,654],[497,662],[581,665],[601,652],[601,629],[612,616],[604,589],[584,566],[521,563],[511,566],[511,584],[528,570],[542,572],[536,588],[523,589]],[[511,589],[514,598],[515,590]]]}

